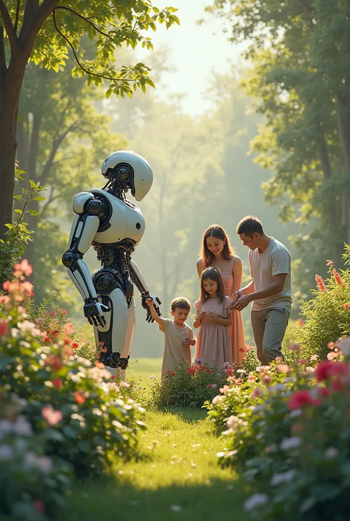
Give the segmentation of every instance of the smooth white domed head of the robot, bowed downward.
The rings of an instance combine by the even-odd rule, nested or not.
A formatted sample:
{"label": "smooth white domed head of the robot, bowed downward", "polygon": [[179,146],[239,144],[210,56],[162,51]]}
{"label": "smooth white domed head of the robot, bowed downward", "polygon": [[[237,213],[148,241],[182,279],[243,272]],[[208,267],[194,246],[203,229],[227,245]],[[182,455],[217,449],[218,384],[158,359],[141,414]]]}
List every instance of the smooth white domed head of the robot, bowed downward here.
{"label": "smooth white domed head of the robot, bowed downward", "polygon": [[101,172],[125,191],[130,189],[136,201],[142,201],[153,182],[152,168],[146,159],[128,150],[109,154],[102,163]]}

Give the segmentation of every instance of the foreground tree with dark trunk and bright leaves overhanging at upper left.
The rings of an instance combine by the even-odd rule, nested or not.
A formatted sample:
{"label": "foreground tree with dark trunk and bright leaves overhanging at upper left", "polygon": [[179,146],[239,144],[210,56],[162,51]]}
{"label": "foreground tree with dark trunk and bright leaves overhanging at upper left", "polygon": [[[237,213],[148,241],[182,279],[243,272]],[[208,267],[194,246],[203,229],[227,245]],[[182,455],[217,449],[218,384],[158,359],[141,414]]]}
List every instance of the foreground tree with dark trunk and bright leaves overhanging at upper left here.
{"label": "foreground tree with dark trunk and bright leaves overhanging at upper left", "polygon": [[[66,65],[68,49],[73,53],[74,76],[85,76],[88,84],[109,82],[107,96],[132,94],[138,86],[153,85],[149,68],[139,63],[114,65],[114,51],[123,44],[134,48],[152,41],[141,31],[156,30],[156,22],[179,23],[171,7],[159,10],[148,0],[128,0],[121,6],[91,0],[74,0],[72,6],[59,0],[0,0],[0,234],[12,221],[12,196],[15,185],[18,103],[28,61],[59,71]],[[86,59],[80,47],[82,36],[95,41],[95,56]],[[9,45],[9,53],[5,46]],[[7,56],[8,54],[8,56]]]}

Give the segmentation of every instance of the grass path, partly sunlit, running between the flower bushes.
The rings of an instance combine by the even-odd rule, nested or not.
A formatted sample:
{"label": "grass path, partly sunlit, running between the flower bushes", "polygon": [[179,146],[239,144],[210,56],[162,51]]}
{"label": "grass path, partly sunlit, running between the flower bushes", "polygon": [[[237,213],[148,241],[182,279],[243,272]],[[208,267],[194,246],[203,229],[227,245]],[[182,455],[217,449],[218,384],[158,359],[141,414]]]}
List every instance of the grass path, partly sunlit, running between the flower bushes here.
{"label": "grass path, partly sunlit, running between the flower bushes", "polygon": [[69,497],[69,521],[243,521],[246,492],[215,454],[203,412],[148,412],[139,455]]}

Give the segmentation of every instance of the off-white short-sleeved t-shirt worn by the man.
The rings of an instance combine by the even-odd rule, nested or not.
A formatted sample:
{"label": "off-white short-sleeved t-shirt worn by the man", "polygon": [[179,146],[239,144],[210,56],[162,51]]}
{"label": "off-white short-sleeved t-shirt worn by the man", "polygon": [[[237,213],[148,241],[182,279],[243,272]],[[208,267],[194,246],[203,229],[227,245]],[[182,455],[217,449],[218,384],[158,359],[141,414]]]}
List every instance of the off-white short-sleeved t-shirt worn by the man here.
{"label": "off-white short-sleeved t-shirt worn by the man", "polygon": [[261,311],[273,307],[282,307],[291,312],[292,307],[292,268],[291,255],[286,247],[271,237],[269,245],[262,253],[258,249],[249,250],[249,266],[254,280],[255,291],[265,289],[274,275],[286,273],[283,290],[276,295],[253,301],[252,311]]}

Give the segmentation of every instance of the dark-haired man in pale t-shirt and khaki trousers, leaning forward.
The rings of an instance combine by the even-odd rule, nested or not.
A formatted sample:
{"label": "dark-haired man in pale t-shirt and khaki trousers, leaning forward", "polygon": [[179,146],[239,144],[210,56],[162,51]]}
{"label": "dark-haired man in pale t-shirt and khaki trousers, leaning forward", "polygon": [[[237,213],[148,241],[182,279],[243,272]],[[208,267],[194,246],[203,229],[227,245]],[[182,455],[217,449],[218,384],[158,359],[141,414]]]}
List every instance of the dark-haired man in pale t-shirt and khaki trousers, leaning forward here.
{"label": "dark-haired man in pale t-shirt and khaki trousers, leaning forward", "polygon": [[268,365],[282,356],[282,341],[291,313],[291,255],[281,242],[264,233],[256,217],[244,217],[236,232],[249,248],[253,280],[236,292],[232,308],[242,311],[253,302],[251,322],[257,357],[261,365]]}

